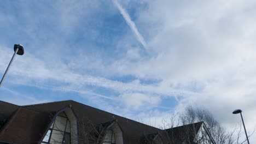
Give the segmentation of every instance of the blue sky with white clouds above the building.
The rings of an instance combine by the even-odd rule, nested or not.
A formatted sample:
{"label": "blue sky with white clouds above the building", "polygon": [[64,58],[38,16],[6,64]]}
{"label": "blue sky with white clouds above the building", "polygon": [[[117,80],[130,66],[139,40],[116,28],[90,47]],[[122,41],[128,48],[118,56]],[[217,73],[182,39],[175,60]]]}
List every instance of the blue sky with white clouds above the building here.
{"label": "blue sky with white clouds above the building", "polygon": [[[2,1],[0,88],[17,105],[74,100],[161,125],[188,105],[256,125],[255,1]],[[251,142],[256,142],[255,138]]]}

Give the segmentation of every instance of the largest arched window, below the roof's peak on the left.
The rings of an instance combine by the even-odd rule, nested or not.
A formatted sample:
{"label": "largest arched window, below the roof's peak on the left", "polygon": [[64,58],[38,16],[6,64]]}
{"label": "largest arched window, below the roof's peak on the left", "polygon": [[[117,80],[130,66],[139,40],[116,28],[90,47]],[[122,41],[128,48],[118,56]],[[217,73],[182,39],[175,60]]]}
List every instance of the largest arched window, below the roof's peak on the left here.
{"label": "largest arched window, below the roof's peak on the left", "polygon": [[70,122],[65,112],[60,113],[50,129],[47,131],[42,143],[70,144]]}

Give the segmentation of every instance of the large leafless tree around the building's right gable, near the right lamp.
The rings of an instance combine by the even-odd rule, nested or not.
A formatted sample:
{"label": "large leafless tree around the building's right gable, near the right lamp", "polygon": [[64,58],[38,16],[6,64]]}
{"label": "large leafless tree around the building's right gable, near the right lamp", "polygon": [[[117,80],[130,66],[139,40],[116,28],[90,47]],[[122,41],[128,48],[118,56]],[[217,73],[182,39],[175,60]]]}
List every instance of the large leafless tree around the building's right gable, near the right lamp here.
{"label": "large leafless tree around the building's right gable, near the right lamp", "polygon": [[[204,124],[202,131],[199,131],[197,125],[199,122]],[[174,112],[168,121],[163,119],[162,124],[162,129],[167,129],[165,135],[170,143],[238,144],[246,142],[246,139],[241,137],[241,123],[234,130],[227,131],[210,111],[198,107],[188,106],[183,113]],[[183,126],[179,127],[180,125]],[[249,134],[249,137],[254,131]]]}

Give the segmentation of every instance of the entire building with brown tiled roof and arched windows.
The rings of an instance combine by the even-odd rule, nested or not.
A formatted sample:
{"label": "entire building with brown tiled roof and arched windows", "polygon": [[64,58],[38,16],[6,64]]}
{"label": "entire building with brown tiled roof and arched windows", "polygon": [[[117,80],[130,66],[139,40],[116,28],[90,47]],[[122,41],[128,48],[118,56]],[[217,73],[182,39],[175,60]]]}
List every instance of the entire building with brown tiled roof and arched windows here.
{"label": "entire building with brown tiled roof and arched windows", "polygon": [[0,143],[215,143],[203,122],[162,130],[73,100],[0,107]]}

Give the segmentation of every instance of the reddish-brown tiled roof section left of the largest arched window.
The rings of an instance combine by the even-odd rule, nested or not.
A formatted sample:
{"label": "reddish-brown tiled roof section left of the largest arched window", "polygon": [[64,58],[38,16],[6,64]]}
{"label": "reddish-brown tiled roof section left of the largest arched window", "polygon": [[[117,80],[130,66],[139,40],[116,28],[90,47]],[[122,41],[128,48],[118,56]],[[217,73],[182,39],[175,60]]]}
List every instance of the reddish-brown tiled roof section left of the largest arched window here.
{"label": "reddish-brown tiled roof section left of the largest arched window", "polygon": [[47,113],[19,107],[1,129],[0,141],[38,143],[49,120]]}

